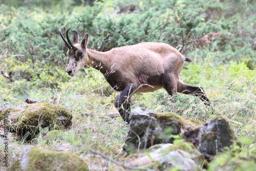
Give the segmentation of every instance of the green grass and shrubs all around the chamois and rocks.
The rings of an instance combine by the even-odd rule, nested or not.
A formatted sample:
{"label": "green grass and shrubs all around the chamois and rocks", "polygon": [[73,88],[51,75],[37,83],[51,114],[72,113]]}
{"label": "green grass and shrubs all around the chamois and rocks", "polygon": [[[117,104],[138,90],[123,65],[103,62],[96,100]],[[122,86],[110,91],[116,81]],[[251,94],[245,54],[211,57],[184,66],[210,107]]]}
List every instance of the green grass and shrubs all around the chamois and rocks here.
{"label": "green grass and shrubs all around the chamois and rocks", "polygon": [[[136,4],[115,0],[89,7],[71,5],[72,0],[64,4],[44,0],[27,7],[31,2],[26,0],[19,7],[20,2],[4,1],[0,6],[0,70],[12,71],[14,80],[9,82],[0,75],[0,105],[24,104],[26,98],[32,98],[65,106],[73,115],[70,130],[39,136],[33,145],[54,151],[69,149],[86,160],[91,170],[114,164],[89,149],[121,160],[128,126],[120,116],[110,115],[117,113],[114,100],[118,93],[92,68],[82,69],[75,77],[65,72],[67,47],[57,31],[72,27],[79,35],[90,33],[89,48],[93,49],[109,50],[142,41],[161,41],[174,47],[184,44],[183,54],[194,62],[185,62],[181,80],[203,87],[213,110],[197,97],[170,97],[163,89],[133,95],[132,110],[141,106],[174,112],[196,124],[216,115],[229,120],[241,147],[234,145],[217,157],[211,170],[225,163],[236,166],[236,161],[255,156],[255,2],[141,0]],[[116,7],[134,3],[134,12],[113,13]],[[211,37],[211,45],[200,46],[198,40],[210,32],[223,37]],[[14,155],[28,145],[11,140],[9,152]]]}

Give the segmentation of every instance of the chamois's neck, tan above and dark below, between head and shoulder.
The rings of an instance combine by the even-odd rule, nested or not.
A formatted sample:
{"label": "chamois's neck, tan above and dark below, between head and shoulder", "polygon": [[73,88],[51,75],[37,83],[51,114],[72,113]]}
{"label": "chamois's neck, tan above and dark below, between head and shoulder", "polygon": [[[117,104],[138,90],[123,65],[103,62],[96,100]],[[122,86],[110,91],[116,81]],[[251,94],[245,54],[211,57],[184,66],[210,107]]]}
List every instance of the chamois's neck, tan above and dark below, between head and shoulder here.
{"label": "chamois's neck, tan above and dark below, between head and shoulder", "polygon": [[99,70],[104,74],[109,69],[109,59],[107,53],[108,52],[99,52],[92,49],[87,49],[87,55],[89,58],[87,65]]}

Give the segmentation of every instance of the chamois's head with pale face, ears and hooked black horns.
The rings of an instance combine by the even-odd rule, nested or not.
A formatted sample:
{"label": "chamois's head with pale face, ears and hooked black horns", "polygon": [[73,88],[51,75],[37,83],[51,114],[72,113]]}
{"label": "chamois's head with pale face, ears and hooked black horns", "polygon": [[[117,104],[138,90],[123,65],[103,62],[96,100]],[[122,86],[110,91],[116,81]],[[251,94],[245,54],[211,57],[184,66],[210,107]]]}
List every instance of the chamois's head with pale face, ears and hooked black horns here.
{"label": "chamois's head with pale face, ears and hooked black horns", "polygon": [[70,29],[71,28],[69,28],[66,31],[66,37],[68,41],[66,41],[66,39],[61,34],[61,29],[59,29],[59,34],[69,48],[67,52],[67,55],[69,56],[69,65],[66,72],[70,76],[74,76],[78,70],[86,66],[88,63],[88,55],[86,52],[86,48],[87,48],[89,34],[86,33],[81,41],[81,44],[79,44],[78,34],[75,30],[73,30],[73,44],[72,44],[68,35],[68,32]]}

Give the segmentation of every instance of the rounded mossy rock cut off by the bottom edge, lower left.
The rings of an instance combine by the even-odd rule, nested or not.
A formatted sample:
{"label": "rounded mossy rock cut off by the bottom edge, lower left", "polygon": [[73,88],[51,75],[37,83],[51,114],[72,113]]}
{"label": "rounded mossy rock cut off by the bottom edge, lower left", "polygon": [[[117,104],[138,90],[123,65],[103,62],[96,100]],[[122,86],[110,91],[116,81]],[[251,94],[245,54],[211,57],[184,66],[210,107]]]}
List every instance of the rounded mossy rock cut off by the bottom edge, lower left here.
{"label": "rounded mossy rock cut off by the bottom edge, lower left", "polygon": [[7,170],[89,170],[87,163],[79,156],[66,152],[53,152],[39,147],[27,147],[16,154]]}

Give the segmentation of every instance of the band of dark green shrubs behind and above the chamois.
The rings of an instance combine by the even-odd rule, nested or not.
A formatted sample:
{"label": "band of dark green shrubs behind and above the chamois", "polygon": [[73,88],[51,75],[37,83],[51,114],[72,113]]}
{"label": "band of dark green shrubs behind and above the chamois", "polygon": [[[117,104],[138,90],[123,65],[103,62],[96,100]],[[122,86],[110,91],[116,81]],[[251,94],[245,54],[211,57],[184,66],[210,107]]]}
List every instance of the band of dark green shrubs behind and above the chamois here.
{"label": "band of dark green shrubs behind and above the chamois", "polygon": [[[254,68],[253,2],[141,1],[135,5],[134,12],[126,14],[110,14],[105,10],[106,6],[115,10],[114,2],[96,2],[93,7],[75,6],[73,1],[54,2],[40,1],[29,6],[29,10],[27,4],[31,1],[24,1],[22,7],[4,1],[7,6],[0,7],[3,11],[1,54],[19,54],[15,56],[15,65],[26,63],[27,66],[24,69],[7,66],[5,69],[15,72],[14,79],[38,80],[45,72],[44,67],[50,76],[62,77],[52,70],[56,67],[63,70],[67,63],[67,47],[58,29],[69,27],[81,36],[88,32],[89,48],[99,51],[143,41],[161,41],[174,47],[183,45],[185,55],[193,56],[193,50],[200,49],[203,50],[200,58],[209,52],[220,56],[213,59],[216,64],[244,61],[250,69]],[[241,8],[245,12],[237,13]],[[56,10],[50,12],[50,9]],[[203,39],[204,36],[207,37]],[[56,84],[49,86],[54,88]]]}

